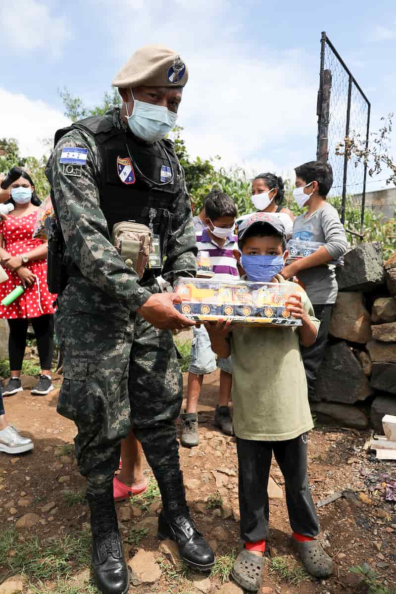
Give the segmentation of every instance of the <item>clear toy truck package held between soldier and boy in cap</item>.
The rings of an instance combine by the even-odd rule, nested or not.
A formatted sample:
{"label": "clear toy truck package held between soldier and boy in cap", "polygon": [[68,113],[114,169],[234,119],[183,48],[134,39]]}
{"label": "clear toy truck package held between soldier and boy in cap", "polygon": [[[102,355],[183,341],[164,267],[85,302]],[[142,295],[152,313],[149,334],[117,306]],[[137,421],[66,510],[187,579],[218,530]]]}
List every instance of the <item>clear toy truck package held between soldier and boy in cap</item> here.
{"label": "clear toy truck package held between soldier and boy in cap", "polygon": [[182,302],[175,308],[196,321],[227,318],[245,326],[301,326],[285,305],[289,295],[301,291],[299,285],[286,283],[180,278],[175,292]]}

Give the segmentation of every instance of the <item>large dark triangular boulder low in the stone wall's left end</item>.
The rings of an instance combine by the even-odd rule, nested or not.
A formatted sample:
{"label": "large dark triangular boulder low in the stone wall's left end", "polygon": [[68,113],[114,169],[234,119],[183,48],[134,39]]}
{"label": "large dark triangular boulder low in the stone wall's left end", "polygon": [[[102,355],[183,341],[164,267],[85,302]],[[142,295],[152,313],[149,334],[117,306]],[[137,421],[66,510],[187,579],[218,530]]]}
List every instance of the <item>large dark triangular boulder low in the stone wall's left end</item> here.
{"label": "large dark triangular boulder low in the stone wall's left end", "polygon": [[328,347],[319,369],[315,401],[354,404],[371,393],[369,381],[347,343]]}

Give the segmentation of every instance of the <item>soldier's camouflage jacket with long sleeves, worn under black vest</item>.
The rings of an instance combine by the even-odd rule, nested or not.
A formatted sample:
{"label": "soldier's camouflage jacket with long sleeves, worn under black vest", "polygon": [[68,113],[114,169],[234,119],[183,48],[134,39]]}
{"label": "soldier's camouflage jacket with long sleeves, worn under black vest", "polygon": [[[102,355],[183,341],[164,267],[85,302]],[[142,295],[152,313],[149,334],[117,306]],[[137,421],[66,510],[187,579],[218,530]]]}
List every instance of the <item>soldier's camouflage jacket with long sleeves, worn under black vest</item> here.
{"label": "soldier's camouflage jacket with long sleeves, worn under black vest", "polygon": [[[120,127],[118,109],[109,110],[103,117],[110,118],[113,125]],[[88,150],[81,176],[64,173],[60,163],[64,147]],[[98,183],[98,172],[105,166],[94,137],[80,129],[71,129],[56,144],[46,166],[46,176],[55,195],[67,253],[84,277],[69,279],[64,291],[66,301],[77,311],[97,308],[110,313],[121,308],[126,314],[128,309],[140,308],[156,289],[147,290],[139,284],[135,271],[123,263],[110,242],[109,229],[100,208]],[[161,272],[161,276],[172,284],[179,276],[195,276],[196,270],[197,247],[185,184],[180,187],[173,221]],[[65,299],[61,298],[61,304],[62,301]]]}

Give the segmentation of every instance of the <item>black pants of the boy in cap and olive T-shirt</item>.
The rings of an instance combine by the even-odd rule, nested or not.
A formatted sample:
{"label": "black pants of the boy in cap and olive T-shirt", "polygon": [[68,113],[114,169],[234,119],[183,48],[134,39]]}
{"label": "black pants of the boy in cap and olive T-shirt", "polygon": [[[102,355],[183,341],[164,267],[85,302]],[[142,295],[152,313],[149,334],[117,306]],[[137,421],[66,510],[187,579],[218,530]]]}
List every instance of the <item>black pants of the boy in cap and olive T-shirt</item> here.
{"label": "black pants of the boy in cap and olive T-shirt", "polygon": [[275,456],[286,490],[287,511],[294,532],[314,537],[319,532],[307,475],[308,434],[294,440],[236,440],[239,466],[240,536],[245,542],[268,538],[268,477]]}

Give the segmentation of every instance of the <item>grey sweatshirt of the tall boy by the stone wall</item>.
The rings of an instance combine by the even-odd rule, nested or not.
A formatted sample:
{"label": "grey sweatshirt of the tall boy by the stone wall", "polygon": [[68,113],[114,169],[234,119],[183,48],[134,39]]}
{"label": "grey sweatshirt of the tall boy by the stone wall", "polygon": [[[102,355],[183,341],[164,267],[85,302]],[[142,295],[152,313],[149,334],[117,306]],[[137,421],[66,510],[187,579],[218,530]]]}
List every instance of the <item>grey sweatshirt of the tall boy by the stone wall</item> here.
{"label": "grey sweatshirt of the tall boy by the stone wall", "polygon": [[[337,210],[327,202],[311,216],[305,217],[305,214],[300,214],[294,220],[293,239],[322,242],[333,260],[345,254],[348,247],[346,233]],[[335,266],[307,268],[300,271],[298,277],[305,285],[306,293],[313,305],[335,303],[338,292]]]}

